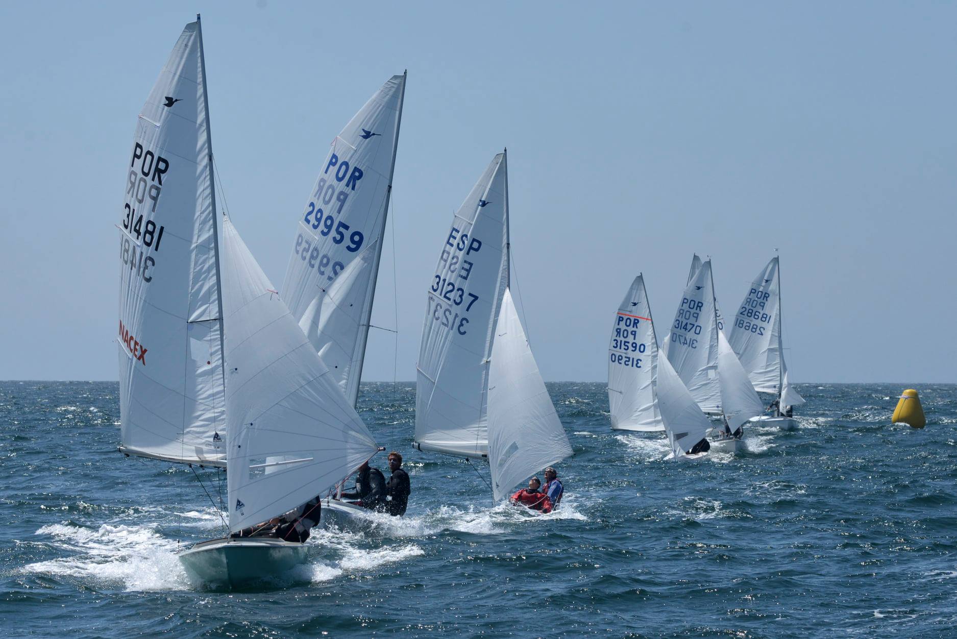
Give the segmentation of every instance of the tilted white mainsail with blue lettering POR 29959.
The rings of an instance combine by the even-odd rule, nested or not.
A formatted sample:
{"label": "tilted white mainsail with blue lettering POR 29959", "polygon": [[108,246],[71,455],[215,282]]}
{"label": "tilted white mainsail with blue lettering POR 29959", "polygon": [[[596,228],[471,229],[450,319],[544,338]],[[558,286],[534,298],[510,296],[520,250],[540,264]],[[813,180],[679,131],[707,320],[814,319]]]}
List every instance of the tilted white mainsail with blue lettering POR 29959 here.
{"label": "tilted white mainsail with blue lettering POR 29959", "polygon": [[[406,77],[393,76],[332,141],[289,257],[282,295],[317,353],[355,405],[382,254]],[[361,268],[348,270],[356,260]],[[336,287],[339,300],[329,296]],[[334,316],[343,311],[348,317]]]}

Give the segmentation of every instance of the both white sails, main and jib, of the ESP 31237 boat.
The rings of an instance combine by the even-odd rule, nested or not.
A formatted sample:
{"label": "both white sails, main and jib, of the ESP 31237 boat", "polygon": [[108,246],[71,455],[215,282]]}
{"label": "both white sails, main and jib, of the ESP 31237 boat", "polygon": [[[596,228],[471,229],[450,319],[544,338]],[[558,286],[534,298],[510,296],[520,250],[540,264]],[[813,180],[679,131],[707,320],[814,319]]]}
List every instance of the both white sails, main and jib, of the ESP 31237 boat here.
{"label": "both white sails, main and jib, of the ESP 31237 boat", "polygon": [[416,369],[412,445],[488,459],[496,501],[572,453],[509,291],[504,152],[443,239]]}

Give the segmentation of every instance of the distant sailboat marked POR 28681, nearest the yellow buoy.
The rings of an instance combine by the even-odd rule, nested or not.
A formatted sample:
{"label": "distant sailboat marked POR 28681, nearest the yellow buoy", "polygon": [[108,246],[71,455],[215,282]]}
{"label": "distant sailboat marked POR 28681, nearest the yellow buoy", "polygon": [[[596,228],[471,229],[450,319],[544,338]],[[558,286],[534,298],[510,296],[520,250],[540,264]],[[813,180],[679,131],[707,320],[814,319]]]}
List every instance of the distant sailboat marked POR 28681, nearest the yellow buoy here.
{"label": "distant sailboat marked POR 28681, nearest the yellow buoy", "polygon": [[777,396],[775,414],[753,421],[784,430],[796,429],[796,420],[782,414],[785,407],[804,404],[804,398],[788,382],[781,333],[781,272],[776,255],[751,282],[728,341],[754,389]]}

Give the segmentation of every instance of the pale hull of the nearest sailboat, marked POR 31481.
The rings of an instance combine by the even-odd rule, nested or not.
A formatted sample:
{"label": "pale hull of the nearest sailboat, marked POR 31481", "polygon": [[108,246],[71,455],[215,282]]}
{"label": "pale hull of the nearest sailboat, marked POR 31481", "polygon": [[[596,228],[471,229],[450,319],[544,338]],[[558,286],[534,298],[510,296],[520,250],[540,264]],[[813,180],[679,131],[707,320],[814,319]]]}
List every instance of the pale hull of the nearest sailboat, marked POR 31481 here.
{"label": "pale hull of the nearest sailboat, marked POR 31481", "polygon": [[275,579],[307,560],[304,544],[268,538],[202,541],[180,553],[190,577],[241,587]]}

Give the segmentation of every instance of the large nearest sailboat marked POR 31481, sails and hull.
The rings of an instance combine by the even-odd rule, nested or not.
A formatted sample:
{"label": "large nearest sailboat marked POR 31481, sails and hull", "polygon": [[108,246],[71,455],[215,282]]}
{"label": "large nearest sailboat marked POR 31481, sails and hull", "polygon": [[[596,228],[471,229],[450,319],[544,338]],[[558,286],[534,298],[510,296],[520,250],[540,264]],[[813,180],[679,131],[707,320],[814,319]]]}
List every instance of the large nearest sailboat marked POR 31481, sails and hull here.
{"label": "large nearest sailboat marked POR 31481, sails and hull", "polygon": [[[224,220],[222,259],[199,16],[137,123],[121,239],[121,451],[228,470],[232,532],[331,490],[377,450],[256,260]],[[210,583],[272,577],[300,543],[198,543]]]}

